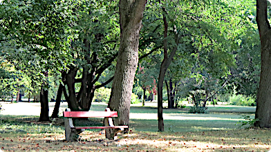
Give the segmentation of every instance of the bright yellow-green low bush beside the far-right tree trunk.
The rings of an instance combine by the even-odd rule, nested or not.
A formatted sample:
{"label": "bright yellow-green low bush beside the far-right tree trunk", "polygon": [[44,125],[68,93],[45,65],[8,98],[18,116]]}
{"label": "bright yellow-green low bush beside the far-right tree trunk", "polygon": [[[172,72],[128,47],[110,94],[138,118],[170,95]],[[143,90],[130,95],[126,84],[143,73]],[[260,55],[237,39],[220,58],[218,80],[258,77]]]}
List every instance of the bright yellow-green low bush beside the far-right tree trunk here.
{"label": "bright yellow-green low bush beside the far-right tree trunk", "polygon": [[256,106],[254,98],[246,97],[241,94],[230,96],[230,105],[239,105],[239,106]]}

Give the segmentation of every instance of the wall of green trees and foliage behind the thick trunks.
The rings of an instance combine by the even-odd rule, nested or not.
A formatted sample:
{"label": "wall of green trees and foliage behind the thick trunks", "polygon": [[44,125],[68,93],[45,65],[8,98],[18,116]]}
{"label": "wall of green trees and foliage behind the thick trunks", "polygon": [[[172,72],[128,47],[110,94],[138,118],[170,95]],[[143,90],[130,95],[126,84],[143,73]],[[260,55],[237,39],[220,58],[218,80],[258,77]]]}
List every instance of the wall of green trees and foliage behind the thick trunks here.
{"label": "wall of green trees and foliage behind the thick trunks", "polygon": [[[131,103],[256,105],[261,47],[254,1],[147,1]],[[109,102],[120,47],[116,1],[1,1],[1,100]],[[269,10],[268,10],[269,11]],[[62,96],[62,94],[64,96]],[[156,96],[158,95],[158,96]],[[158,112],[159,113],[159,112]],[[162,128],[159,127],[162,131]]]}

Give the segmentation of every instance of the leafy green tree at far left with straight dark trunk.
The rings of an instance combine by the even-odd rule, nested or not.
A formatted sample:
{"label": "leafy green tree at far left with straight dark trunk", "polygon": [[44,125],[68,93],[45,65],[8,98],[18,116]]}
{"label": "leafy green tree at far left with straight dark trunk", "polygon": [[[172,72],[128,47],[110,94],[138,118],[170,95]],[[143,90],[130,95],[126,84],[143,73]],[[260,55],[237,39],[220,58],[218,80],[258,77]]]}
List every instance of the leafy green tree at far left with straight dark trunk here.
{"label": "leafy green tree at far left with straight dark trunk", "polygon": [[[57,5],[62,3],[62,5]],[[40,121],[48,116],[48,72],[65,69],[77,18],[75,1],[1,1],[4,58],[41,88]],[[69,7],[67,7],[69,6]],[[59,59],[62,58],[62,59]],[[34,84],[34,83],[32,83]]]}

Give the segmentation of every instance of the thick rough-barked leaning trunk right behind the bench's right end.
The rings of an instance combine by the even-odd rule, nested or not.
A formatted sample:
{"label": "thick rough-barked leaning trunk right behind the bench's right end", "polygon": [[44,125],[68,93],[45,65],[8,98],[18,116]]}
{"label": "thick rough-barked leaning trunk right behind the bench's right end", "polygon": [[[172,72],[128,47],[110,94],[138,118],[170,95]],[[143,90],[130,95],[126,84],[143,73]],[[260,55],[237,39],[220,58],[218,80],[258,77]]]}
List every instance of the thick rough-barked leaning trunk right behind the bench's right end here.
{"label": "thick rough-barked leaning trunk right behind the bench's right end", "polygon": [[[120,49],[109,100],[109,108],[118,111],[115,125],[129,126],[133,80],[138,66],[139,33],[147,0],[120,0]],[[115,131],[106,131],[114,138]]]}

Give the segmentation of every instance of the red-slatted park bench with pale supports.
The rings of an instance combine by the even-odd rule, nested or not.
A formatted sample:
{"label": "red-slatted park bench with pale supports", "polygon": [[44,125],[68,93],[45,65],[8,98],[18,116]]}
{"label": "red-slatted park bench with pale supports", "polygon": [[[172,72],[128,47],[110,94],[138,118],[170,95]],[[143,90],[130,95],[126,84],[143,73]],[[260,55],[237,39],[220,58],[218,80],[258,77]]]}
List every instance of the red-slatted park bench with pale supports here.
{"label": "red-slatted park bench with pale supports", "polygon": [[[105,111],[71,111],[67,108],[63,112],[63,116],[66,141],[77,141],[79,133],[82,133],[84,129],[119,129],[123,131],[124,128],[128,128],[128,126],[114,126],[112,117],[118,117],[118,112],[110,111],[109,108],[106,108]],[[75,127],[72,118],[104,118],[104,126]],[[115,131],[114,140],[118,138],[117,133],[120,131]]]}

